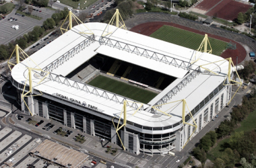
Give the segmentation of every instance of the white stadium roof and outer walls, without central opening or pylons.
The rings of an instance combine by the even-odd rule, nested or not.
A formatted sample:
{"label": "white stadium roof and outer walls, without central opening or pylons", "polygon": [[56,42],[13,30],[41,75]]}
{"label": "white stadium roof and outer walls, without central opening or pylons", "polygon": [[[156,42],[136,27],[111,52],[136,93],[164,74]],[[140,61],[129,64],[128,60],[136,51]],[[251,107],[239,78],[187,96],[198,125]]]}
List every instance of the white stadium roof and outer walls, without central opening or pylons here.
{"label": "white stadium roof and outer walls, without central opening or pylons", "polygon": [[[133,108],[127,106],[127,125],[119,130],[119,134],[125,149],[131,153],[164,154],[173,149],[181,151],[195,129],[188,124],[183,125],[182,103],[174,108],[171,108],[173,104],[170,103],[160,106],[160,110],[171,117],[154,110],[152,106],[186,99],[197,124],[197,134],[230,100],[231,88],[223,85],[228,73],[228,61],[216,62],[223,60],[220,56],[198,52],[197,58],[200,59],[191,65],[195,50],[115,26],[105,30],[107,24],[87,23],[86,26],[94,35],[81,34],[90,31],[82,25],[75,26],[32,54],[31,59],[27,58],[13,67],[11,79],[19,91],[24,113],[29,114],[21,99],[28,78],[28,67],[37,68],[38,65],[44,71],[49,71],[50,75],[40,84],[37,84],[42,79],[40,75],[46,73],[38,72],[36,75],[34,72],[35,75],[32,75],[34,95],[42,92],[40,96],[25,97],[32,114],[52,118],[65,126],[102,136],[121,145],[112,120],[116,117],[114,122],[118,122],[123,100],[131,99],[67,78],[97,54],[175,79],[149,103],[143,103],[142,110],[135,115],[132,116]],[[108,32],[102,38],[102,34]],[[215,63],[209,64],[211,62]],[[205,65],[206,69],[217,75],[205,71],[200,65]],[[26,91],[29,91],[28,81]],[[134,103],[130,105],[135,107]],[[188,115],[185,121],[193,124]]]}

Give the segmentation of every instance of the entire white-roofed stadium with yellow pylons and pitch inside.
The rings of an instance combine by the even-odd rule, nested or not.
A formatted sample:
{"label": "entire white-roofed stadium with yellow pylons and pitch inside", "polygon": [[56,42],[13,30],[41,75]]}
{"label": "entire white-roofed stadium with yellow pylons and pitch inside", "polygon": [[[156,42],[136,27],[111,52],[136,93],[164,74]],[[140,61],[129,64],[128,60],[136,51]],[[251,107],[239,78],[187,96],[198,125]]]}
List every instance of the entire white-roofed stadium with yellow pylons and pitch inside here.
{"label": "entire white-roofed stadium with yellow pylons and pitch inside", "polygon": [[230,101],[232,61],[120,27],[79,24],[16,59],[22,112],[136,155],[181,151]]}

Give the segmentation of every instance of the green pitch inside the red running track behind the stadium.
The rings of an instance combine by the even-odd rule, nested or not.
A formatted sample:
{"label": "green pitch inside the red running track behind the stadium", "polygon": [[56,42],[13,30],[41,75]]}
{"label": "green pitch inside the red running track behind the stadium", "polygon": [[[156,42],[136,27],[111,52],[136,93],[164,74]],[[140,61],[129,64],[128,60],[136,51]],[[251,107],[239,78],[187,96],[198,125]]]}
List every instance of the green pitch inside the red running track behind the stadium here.
{"label": "green pitch inside the red running track behind the stadium", "polygon": [[[156,32],[150,35],[152,38],[157,38],[159,40],[164,40],[179,46],[185,46],[193,50],[199,48],[204,36],[201,34],[196,34],[189,32],[187,30],[182,30],[180,28],[174,28],[172,26],[162,26]],[[220,56],[222,51],[226,49],[226,42],[217,40],[215,38],[209,38],[210,44],[212,46],[212,54]]]}

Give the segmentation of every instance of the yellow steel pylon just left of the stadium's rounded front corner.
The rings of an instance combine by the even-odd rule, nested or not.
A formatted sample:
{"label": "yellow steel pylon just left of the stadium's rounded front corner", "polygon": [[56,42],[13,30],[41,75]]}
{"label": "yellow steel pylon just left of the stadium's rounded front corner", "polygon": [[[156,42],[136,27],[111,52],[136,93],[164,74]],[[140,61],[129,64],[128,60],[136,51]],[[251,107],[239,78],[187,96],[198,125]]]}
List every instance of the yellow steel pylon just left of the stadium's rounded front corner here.
{"label": "yellow steel pylon just left of the stadium's rounded front corner", "polygon": [[[117,127],[115,126],[115,122],[114,122],[115,117],[112,118],[113,125],[114,125],[114,127],[115,127],[116,132],[117,132],[117,136],[119,137],[119,140],[121,141],[121,144],[122,144],[122,146],[123,146],[123,150],[125,150],[125,146],[123,145],[123,141],[121,140],[121,137],[119,136],[118,131],[119,131],[121,128],[123,128],[124,126],[126,126],[126,122],[127,122],[127,106],[129,106],[130,108],[132,108],[132,107],[129,105],[129,103],[127,103],[127,102],[140,104],[139,108],[135,109],[135,110],[134,110],[134,113],[133,113],[131,116],[133,116],[135,113],[137,113],[137,112],[141,109],[141,107],[143,106],[143,103],[138,103],[138,102],[134,102],[134,101],[127,101],[127,100],[125,100],[125,101],[123,101],[123,108],[122,108],[122,110],[121,110],[121,114],[120,114],[120,117],[119,117],[119,122],[118,122],[118,124],[117,124]],[[134,109],[134,108],[133,108],[133,109]],[[123,114],[123,124],[122,124],[121,126],[119,126],[120,121],[121,121],[121,116],[122,116],[122,114]]]}

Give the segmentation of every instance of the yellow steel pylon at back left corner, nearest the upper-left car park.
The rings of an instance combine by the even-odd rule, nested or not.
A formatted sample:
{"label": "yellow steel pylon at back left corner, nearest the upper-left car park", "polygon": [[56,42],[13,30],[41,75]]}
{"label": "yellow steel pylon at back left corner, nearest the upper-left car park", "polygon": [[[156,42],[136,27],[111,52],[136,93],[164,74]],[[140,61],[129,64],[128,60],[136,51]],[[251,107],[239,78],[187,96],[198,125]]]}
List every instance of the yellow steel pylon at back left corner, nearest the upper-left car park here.
{"label": "yellow steel pylon at back left corner, nearest the upper-left car park", "polygon": [[[66,19],[67,19],[67,17],[69,17],[69,24],[67,25],[67,28],[63,28],[63,25],[64,25],[64,23],[66,22]],[[75,22],[77,23],[77,25],[79,25],[79,28],[80,28],[80,30],[82,31],[82,32],[79,32],[80,34],[94,34],[89,28],[87,28],[86,27],[86,25],[80,20],[80,19],[78,19],[78,17],[76,17],[76,15],[74,15],[73,13],[72,13],[72,11],[69,11],[69,14],[67,15],[67,17],[65,18],[65,20],[64,20],[64,22],[63,22],[63,24],[61,25],[61,33],[62,34],[64,34],[65,32],[67,32],[68,30],[71,30],[73,27],[73,25],[72,25],[72,21],[73,21],[73,19],[75,20]],[[80,24],[79,24],[80,23]],[[82,27],[81,27],[81,24],[86,28],[86,30],[83,30],[82,29]],[[63,32],[63,30],[65,31],[65,32]],[[89,32],[87,32],[87,30],[89,31]],[[86,31],[86,32],[85,32]]]}

